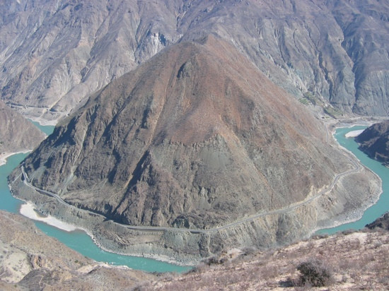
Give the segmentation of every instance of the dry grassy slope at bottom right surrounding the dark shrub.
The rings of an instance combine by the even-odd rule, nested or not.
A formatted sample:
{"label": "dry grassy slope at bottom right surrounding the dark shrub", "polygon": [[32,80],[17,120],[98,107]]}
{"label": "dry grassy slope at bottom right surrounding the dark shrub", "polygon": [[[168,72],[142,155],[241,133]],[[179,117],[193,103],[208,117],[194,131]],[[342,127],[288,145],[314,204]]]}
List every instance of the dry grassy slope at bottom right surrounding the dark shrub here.
{"label": "dry grassy slope at bottom right surrounding the dark shrub", "polygon": [[[224,253],[186,275],[146,283],[139,290],[388,290],[388,243],[388,232],[347,232],[234,258]],[[297,267],[309,260],[322,262],[332,273],[325,287],[298,280]]]}

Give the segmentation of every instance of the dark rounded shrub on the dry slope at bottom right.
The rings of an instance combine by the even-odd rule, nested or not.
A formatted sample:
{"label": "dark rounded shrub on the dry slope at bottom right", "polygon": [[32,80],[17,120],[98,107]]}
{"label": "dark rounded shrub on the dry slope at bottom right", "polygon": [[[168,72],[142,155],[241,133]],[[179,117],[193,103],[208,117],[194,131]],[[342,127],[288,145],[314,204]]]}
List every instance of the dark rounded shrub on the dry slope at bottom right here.
{"label": "dark rounded shrub on the dry slope at bottom right", "polygon": [[301,273],[298,285],[323,287],[332,281],[330,269],[317,259],[300,263],[297,270]]}

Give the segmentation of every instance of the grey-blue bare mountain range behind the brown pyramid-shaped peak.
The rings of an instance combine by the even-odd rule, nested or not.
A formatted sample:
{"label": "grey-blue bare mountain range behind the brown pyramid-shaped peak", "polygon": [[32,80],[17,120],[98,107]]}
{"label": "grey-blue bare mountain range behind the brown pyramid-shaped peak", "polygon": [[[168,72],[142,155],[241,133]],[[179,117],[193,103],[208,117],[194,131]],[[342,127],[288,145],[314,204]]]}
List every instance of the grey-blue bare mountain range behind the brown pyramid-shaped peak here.
{"label": "grey-blue bare mountain range behind the brown pyramid-shaped peak", "polygon": [[388,20],[379,0],[4,0],[1,99],[58,119],[164,47],[213,33],[299,99],[388,116]]}

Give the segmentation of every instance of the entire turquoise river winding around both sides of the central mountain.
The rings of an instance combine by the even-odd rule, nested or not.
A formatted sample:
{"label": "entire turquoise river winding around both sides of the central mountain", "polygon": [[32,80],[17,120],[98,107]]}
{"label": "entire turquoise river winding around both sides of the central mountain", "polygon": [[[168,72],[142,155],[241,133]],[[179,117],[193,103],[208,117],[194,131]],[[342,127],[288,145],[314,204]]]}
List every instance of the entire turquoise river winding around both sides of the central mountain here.
{"label": "entire turquoise river winding around both sides of the central mountain", "polygon": [[[35,124],[37,125],[37,124]],[[54,130],[54,126],[38,126],[45,133],[50,134]],[[356,222],[347,223],[340,225],[339,227],[333,227],[330,229],[320,230],[320,233],[335,233],[342,230],[347,230],[349,228],[361,229],[367,223],[372,222],[379,216],[381,216],[385,211],[388,210],[389,206],[389,169],[381,165],[380,162],[371,160],[367,155],[362,153],[358,149],[358,145],[354,141],[354,138],[345,138],[344,135],[349,131],[354,131],[358,129],[364,129],[366,126],[354,126],[352,128],[342,128],[337,129],[335,133],[335,138],[340,145],[344,146],[348,150],[352,151],[361,162],[369,167],[373,172],[376,172],[381,179],[383,180],[383,194],[381,194],[380,200],[378,203],[368,208],[365,211],[363,218]],[[11,195],[6,177],[11,171],[25,158],[26,154],[16,154],[12,155],[7,159],[6,165],[0,167],[0,209],[6,210],[11,213],[18,213],[18,210],[23,203],[22,201],[13,198]],[[108,251],[103,251],[100,249],[83,231],[74,231],[74,232],[65,232],[59,230],[50,225],[46,225],[42,222],[35,222],[37,227],[40,228],[50,237],[56,237],[62,243],[66,244],[71,249],[79,251],[79,253],[84,256],[88,256],[95,261],[103,261],[112,263],[115,266],[129,266],[130,268],[139,269],[147,272],[182,272],[187,271],[190,267],[176,266],[171,263],[164,263],[161,261],[156,261],[152,259],[146,259],[137,256],[124,256],[120,254],[110,253]]]}

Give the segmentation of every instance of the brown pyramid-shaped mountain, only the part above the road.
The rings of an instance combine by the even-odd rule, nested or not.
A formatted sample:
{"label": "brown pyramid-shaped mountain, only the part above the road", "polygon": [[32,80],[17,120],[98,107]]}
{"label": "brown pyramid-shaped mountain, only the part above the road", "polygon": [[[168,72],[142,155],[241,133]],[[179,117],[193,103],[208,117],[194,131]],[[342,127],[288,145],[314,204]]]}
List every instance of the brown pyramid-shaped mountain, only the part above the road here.
{"label": "brown pyramid-shaped mountain, only the part above the road", "polygon": [[25,168],[35,186],[117,221],[204,228],[330,184],[324,139],[302,105],[208,37],[100,90]]}

